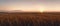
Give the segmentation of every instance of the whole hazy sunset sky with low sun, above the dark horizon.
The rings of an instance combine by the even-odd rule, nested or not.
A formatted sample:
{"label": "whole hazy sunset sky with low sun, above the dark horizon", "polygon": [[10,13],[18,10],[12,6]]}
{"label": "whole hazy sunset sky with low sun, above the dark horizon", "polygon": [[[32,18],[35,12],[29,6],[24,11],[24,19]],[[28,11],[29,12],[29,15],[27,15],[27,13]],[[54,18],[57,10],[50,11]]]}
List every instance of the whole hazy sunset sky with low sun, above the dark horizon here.
{"label": "whole hazy sunset sky with low sun, above the dark horizon", "polygon": [[0,0],[0,10],[60,12],[60,0]]}

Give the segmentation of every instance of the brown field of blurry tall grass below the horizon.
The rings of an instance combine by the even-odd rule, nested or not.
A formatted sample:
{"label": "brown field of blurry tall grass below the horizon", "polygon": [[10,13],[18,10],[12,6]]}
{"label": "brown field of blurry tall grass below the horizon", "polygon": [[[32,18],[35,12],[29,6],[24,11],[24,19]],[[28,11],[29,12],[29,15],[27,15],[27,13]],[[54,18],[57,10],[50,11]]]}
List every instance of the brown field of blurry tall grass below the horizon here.
{"label": "brown field of blurry tall grass below the horizon", "polygon": [[1,13],[0,26],[60,26],[60,14]]}

